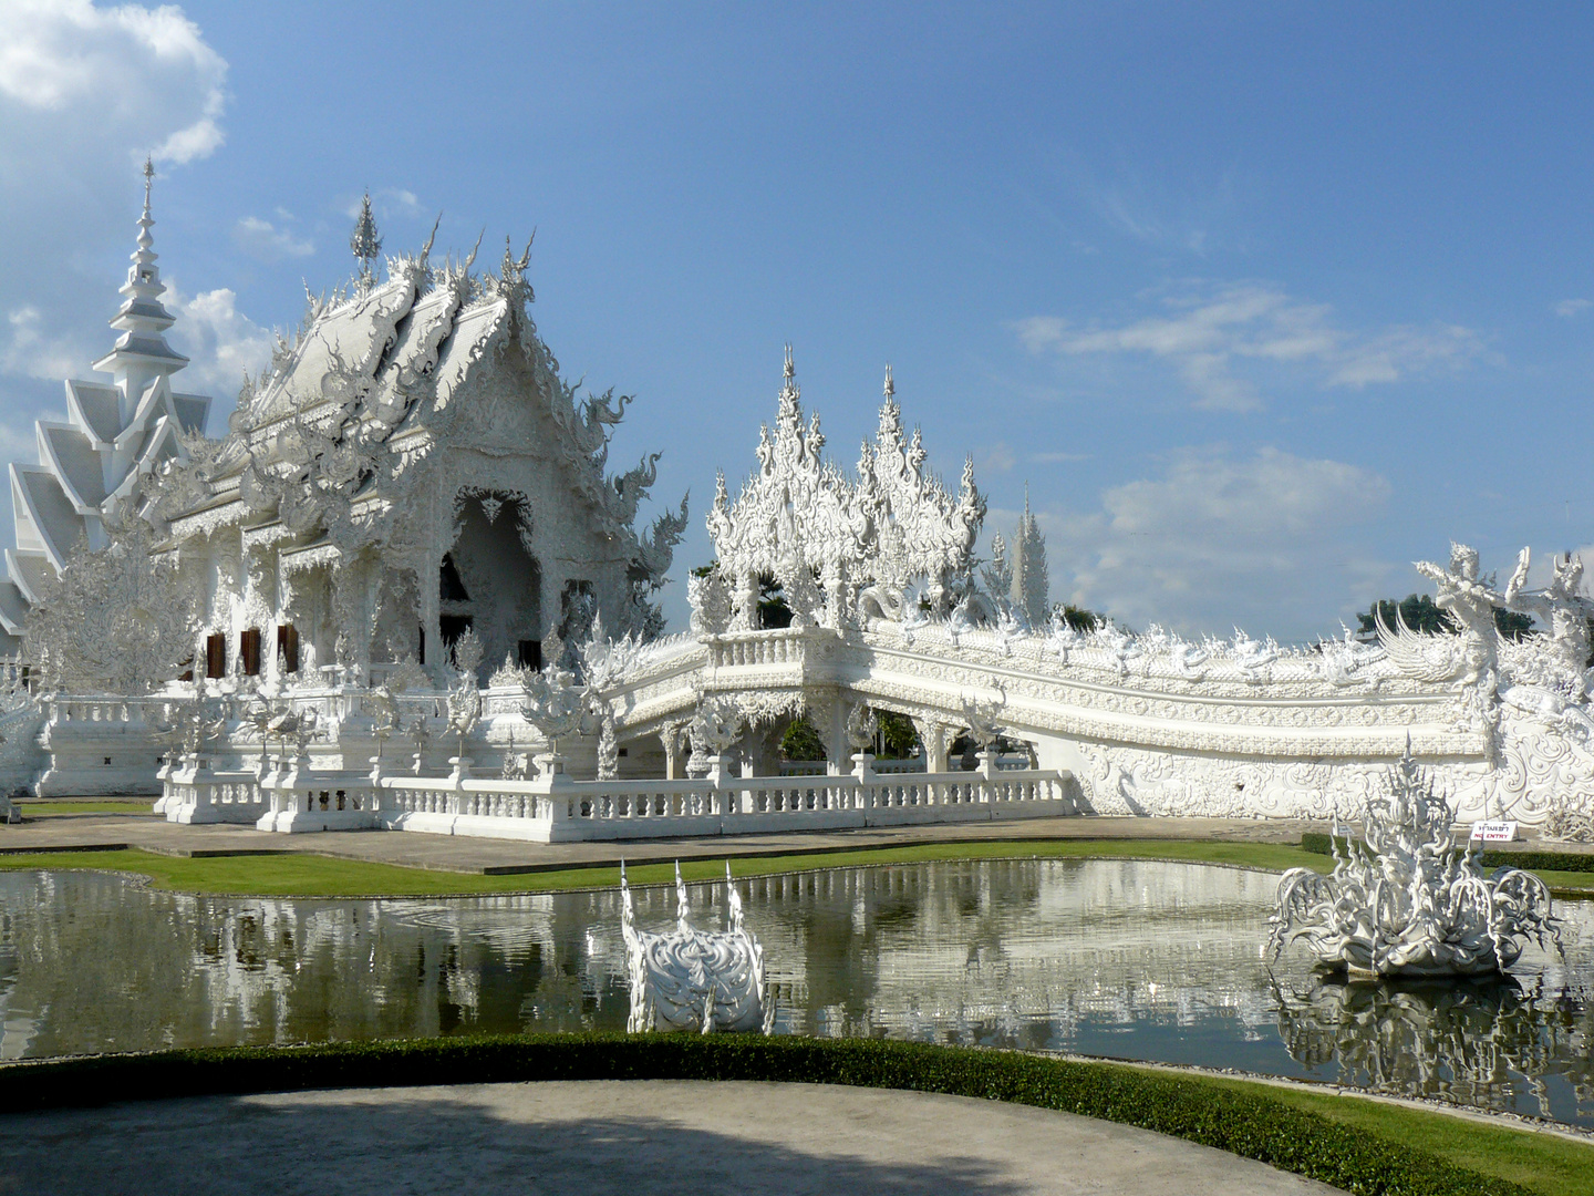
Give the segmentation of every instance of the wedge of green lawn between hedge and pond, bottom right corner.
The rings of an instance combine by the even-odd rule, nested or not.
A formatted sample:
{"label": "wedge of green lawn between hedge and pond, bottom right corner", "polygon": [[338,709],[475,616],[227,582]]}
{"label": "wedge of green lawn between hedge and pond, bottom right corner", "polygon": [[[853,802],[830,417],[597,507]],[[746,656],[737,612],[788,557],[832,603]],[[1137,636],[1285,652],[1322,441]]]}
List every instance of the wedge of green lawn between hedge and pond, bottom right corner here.
{"label": "wedge of green lawn between hedge and pond, bottom right corner", "polygon": [[1390,1142],[1409,1143],[1459,1167],[1513,1180],[1545,1196],[1594,1196],[1594,1143],[1304,1088],[1218,1078],[1203,1083],[1267,1096]]}

